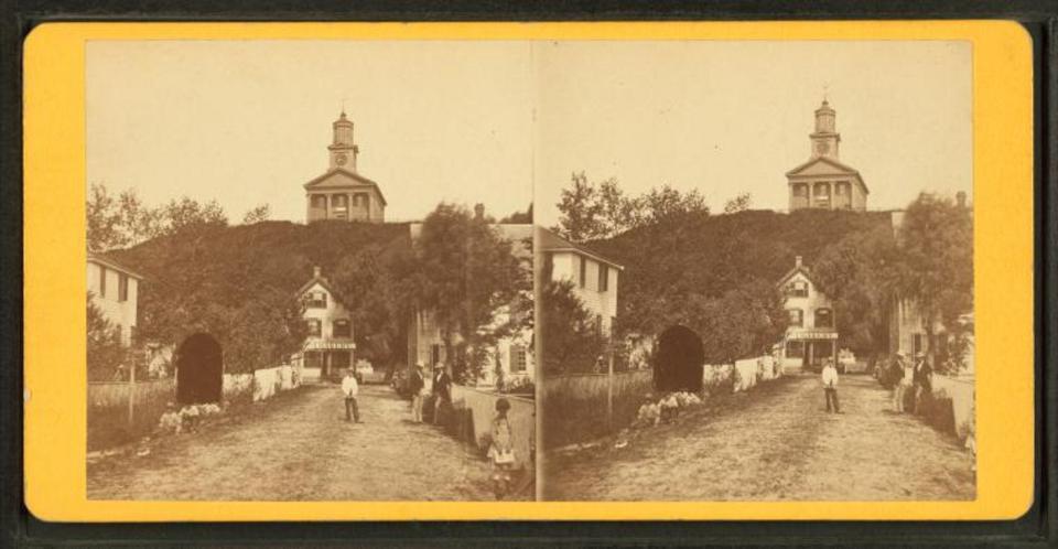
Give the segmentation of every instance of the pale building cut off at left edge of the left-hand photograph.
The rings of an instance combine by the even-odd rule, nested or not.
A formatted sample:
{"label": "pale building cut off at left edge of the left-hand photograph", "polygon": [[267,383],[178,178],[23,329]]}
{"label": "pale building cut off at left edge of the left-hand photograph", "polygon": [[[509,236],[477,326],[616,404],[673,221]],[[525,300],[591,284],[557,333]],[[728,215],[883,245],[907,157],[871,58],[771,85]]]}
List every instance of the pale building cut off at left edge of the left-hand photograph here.
{"label": "pale building cut off at left edge of the left-hand photograph", "polygon": [[136,336],[138,299],[143,277],[105,254],[88,252],[88,292],[91,303],[118,329],[121,343]]}

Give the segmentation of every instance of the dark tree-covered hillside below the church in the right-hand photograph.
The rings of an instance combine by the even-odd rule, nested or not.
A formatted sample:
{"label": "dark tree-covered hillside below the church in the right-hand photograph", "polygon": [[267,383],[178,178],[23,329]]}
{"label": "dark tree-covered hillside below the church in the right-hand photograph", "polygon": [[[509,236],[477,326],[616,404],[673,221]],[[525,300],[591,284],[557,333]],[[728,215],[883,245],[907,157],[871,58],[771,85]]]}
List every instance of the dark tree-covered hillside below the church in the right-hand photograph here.
{"label": "dark tree-covered hillside below the church in the right-hand photograph", "polygon": [[625,267],[624,331],[684,324],[702,336],[706,359],[730,362],[781,337],[787,315],[775,284],[797,256],[811,269],[846,238],[879,232],[892,237],[889,213],[745,209],[670,216],[589,246]]}

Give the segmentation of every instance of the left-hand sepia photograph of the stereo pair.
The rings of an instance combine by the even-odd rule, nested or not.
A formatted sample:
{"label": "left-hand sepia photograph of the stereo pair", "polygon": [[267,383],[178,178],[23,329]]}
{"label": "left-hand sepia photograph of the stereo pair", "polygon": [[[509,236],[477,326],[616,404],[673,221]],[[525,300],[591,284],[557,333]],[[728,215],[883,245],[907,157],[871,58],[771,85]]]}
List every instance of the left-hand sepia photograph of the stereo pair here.
{"label": "left-hand sepia photograph of the stereo pair", "polygon": [[88,498],[533,499],[532,76],[90,42]]}

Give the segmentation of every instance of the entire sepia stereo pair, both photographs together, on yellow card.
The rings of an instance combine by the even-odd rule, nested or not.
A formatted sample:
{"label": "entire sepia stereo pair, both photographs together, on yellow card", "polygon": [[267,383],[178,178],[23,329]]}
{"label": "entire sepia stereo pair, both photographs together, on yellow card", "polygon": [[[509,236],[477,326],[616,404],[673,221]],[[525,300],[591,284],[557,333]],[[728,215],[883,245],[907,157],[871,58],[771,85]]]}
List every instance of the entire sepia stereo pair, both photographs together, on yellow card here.
{"label": "entire sepia stereo pair, both photographs together, on yellow card", "polygon": [[969,43],[86,52],[89,499],[975,499]]}

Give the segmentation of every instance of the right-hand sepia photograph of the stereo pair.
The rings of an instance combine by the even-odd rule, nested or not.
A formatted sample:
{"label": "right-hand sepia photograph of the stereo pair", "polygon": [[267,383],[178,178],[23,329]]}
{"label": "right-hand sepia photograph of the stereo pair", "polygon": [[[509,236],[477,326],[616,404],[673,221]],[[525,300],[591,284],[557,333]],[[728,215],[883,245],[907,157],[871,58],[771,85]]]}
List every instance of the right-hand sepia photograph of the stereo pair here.
{"label": "right-hand sepia photograph of the stereo pair", "polygon": [[975,499],[972,55],[535,46],[542,499]]}

